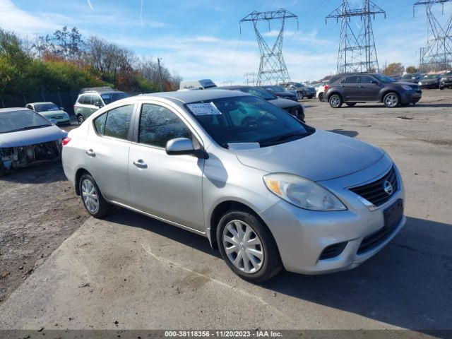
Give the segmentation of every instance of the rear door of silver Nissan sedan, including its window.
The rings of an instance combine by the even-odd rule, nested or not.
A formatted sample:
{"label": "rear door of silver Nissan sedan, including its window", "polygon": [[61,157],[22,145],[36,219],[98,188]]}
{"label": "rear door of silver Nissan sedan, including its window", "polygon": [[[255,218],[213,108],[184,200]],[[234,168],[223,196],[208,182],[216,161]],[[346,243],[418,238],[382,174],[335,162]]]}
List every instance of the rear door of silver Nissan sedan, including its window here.
{"label": "rear door of silver Nissan sedan, including its window", "polygon": [[130,126],[135,105],[114,107],[93,120],[85,143],[85,161],[100,191],[110,201],[131,204]]}

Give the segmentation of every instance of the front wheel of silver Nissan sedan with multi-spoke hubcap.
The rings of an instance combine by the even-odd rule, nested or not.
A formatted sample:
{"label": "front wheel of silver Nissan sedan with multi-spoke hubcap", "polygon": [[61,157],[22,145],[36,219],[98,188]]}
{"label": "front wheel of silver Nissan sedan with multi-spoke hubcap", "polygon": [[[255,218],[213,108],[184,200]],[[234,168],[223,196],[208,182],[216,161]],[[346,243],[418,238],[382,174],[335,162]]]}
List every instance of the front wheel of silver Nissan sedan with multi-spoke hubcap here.
{"label": "front wheel of silver Nissan sedan with multi-spoke hubcap", "polygon": [[[229,230],[225,230],[227,225],[237,225],[235,221],[239,221],[239,225],[242,225],[240,227],[251,227],[251,234],[249,235],[249,239],[258,239],[261,242],[261,246],[258,245],[258,248],[261,249],[263,252],[263,258],[262,261],[260,261],[261,266],[259,268],[253,268],[257,269],[254,273],[246,273],[244,270],[234,266],[234,263],[232,263],[232,258],[228,256],[225,249],[225,244],[223,242],[223,234],[231,234]],[[230,224],[230,222],[232,222]],[[239,230],[237,226],[236,230]],[[246,230],[246,228],[245,228]],[[243,232],[243,231],[242,231]],[[238,234],[239,232],[237,232]],[[254,237],[253,237],[254,236]],[[234,208],[232,210],[228,210],[221,218],[220,222],[218,223],[217,227],[217,242],[218,242],[218,248],[220,249],[220,254],[222,258],[225,260],[225,263],[227,266],[234,272],[235,274],[239,275],[240,278],[244,280],[248,280],[252,283],[264,283],[267,280],[270,280],[273,278],[278,272],[283,268],[283,264],[281,263],[280,254],[278,251],[278,246],[276,246],[275,239],[273,239],[273,235],[270,233],[266,225],[261,222],[258,218],[256,218],[256,215],[253,213],[250,213],[249,210],[246,210],[244,208]],[[228,244],[232,244],[229,243]],[[242,249],[243,244],[246,244],[245,242],[240,242],[237,244],[237,249]],[[233,245],[232,245],[233,246]],[[231,248],[231,247],[228,247]],[[249,253],[249,252],[247,252]],[[230,256],[233,256],[234,253],[231,253]],[[250,254],[246,254],[247,256],[250,256]],[[237,258],[238,254],[235,256]],[[253,256],[254,261],[259,261],[260,259],[257,256]],[[251,259],[250,259],[251,260]],[[243,263],[243,269],[245,269],[245,263],[244,260],[239,260],[237,265],[240,266],[240,263]],[[250,261],[251,263],[251,261]],[[251,266],[249,266],[251,267]]]}

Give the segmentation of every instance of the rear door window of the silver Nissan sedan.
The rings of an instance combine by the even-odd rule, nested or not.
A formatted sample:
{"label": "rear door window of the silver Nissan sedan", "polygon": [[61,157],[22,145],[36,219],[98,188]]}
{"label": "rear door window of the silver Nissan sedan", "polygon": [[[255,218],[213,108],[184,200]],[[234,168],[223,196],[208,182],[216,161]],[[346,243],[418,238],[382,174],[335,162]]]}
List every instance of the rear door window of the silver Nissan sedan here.
{"label": "rear door window of the silver Nissan sedan", "polygon": [[127,140],[133,105],[121,106],[100,115],[94,120],[94,127],[101,136]]}

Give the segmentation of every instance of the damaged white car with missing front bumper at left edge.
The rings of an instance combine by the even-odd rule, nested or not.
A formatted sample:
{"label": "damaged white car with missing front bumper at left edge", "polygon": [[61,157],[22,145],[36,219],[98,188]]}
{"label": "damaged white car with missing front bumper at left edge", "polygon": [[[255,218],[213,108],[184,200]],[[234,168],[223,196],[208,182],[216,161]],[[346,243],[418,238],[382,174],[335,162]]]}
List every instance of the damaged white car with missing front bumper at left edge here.
{"label": "damaged white car with missing front bumper at left edge", "polygon": [[0,174],[57,160],[67,132],[27,108],[0,109]]}

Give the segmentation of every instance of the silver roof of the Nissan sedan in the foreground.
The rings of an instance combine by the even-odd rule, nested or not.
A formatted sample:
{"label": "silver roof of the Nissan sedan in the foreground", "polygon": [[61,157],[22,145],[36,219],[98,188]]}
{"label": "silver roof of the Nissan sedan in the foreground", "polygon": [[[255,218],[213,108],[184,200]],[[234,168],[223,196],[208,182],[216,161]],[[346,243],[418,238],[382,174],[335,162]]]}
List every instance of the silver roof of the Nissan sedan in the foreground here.
{"label": "silver roof of the Nissan sedan in the foreground", "polygon": [[198,102],[203,100],[215,100],[221,99],[223,97],[238,97],[246,95],[247,95],[246,93],[231,90],[208,89],[208,90],[181,90],[178,92],[148,93],[138,95],[138,97],[163,97],[168,100],[184,102],[185,104],[187,104],[190,102]]}

